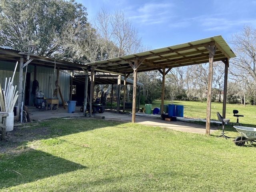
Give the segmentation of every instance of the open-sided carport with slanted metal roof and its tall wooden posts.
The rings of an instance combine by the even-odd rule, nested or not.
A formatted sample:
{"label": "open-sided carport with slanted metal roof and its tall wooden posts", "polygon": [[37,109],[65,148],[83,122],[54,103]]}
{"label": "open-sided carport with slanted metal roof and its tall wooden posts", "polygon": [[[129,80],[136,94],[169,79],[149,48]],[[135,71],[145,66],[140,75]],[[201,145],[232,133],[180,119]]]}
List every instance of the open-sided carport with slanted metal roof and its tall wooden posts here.
{"label": "open-sided carport with slanted metal roof and its tall wooden posts", "polygon": [[[222,116],[225,118],[228,66],[229,59],[232,57],[236,57],[236,55],[222,38],[222,36],[213,36],[210,38],[169,46],[166,48],[91,62],[86,65],[90,66],[92,71],[110,72],[125,76],[127,76],[127,74],[133,73],[134,81],[136,81],[137,72],[150,70],[160,71],[163,75],[161,102],[163,109],[165,75],[174,67],[209,63],[206,134],[210,134],[212,65],[215,61],[222,61],[225,64],[224,102],[222,111]],[[132,122],[135,122],[136,84],[134,84],[133,90]]]}

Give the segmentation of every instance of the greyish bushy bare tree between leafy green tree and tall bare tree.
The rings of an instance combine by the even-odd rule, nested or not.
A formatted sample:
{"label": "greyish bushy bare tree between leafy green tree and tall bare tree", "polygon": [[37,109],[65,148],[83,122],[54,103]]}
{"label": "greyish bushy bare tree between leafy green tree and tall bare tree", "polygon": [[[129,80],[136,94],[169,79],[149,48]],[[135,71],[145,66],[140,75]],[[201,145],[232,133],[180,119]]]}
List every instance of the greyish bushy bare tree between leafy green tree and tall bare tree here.
{"label": "greyish bushy bare tree between leafy green tree and tall bare tree", "polygon": [[74,24],[73,21],[65,24],[60,35],[55,34],[55,45],[60,57],[83,63],[104,59],[106,51],[102,42],[90,24],[81,26],[79,23]]}

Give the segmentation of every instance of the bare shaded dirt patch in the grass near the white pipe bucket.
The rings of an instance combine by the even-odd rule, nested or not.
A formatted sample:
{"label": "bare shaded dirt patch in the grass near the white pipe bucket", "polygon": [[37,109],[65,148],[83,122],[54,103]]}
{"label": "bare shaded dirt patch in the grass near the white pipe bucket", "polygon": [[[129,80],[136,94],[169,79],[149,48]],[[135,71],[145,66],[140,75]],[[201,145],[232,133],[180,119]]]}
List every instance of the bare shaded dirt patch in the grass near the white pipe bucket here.
{"label": "bare shaded dirt patch in the grass near the white pipe bucket", "polygon": [[12,131],[6,133],[6,140],[0,140],[0,153],[13,150],[24,142],[46,138],[51,133],[48,127],[14,126]]}

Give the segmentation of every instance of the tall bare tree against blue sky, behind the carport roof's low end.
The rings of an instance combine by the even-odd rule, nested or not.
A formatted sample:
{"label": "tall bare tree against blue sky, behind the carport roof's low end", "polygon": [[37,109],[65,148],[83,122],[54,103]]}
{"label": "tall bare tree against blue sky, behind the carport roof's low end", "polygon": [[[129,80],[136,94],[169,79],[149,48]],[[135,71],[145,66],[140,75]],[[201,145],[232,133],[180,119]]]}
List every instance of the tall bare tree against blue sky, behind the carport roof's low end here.
{"label": "tall bare tree against blue sky, behind the carport roof's low end", "polygon": [[[109,58],[133,54],[142,48],[138,30],[132,26],[132,23],[122,11],[116,10],[114,14],[110,14],[102,8],[101,12],[97,13],[93,26],[101,39],[104,40]],[[106,42],[113,42],[117,50],[109,49]]]}

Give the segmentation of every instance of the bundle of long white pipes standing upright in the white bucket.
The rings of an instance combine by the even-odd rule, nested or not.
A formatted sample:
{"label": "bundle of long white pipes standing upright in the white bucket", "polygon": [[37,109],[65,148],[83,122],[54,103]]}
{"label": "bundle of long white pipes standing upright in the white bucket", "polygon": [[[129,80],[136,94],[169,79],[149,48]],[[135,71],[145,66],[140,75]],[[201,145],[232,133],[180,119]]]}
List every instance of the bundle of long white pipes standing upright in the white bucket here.
{"label": "bundle of long white pipes standing upright in the white bucket", "polygon": [[2,89],[0,84],[0,108],[2,112],[12,112],[14,109],[14,105],[18,99],[18,91],[16,91],[17,86],[13,86],[13,79],[18,66],[18,62],[16,63],[12,79],[9,78],[7,84],[7,77],[5,78],[5,86]]}

